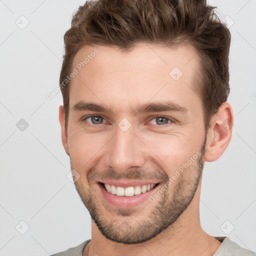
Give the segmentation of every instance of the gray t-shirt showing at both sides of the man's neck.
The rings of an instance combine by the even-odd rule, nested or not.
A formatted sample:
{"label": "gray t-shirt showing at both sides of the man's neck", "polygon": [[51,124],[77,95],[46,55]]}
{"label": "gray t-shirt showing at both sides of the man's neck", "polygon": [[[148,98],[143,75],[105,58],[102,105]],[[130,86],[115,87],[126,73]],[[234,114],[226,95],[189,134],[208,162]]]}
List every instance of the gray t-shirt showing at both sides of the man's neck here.
{"label": "gray t-shirt showing at both sides of the man's neck", "polygon": [[[222,241],[216,252],[213,256],[255,256],[256,253],[251,250],[244,249],[240,247],[237,243],[231,241],[226,236],[215,236],[215,238],[219,241]],[[82,256],[82,252],[86,244],[90,241],[86,240],[81,244],[69,248],[65,251],[55,253],[51,256]]]}

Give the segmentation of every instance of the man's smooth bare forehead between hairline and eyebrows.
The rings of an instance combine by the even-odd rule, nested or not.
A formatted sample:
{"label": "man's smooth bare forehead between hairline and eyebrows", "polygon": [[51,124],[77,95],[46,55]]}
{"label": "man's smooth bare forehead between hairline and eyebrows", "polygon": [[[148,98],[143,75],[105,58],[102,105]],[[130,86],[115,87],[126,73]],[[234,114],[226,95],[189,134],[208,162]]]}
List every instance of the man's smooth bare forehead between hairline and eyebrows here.
{"label": "man's smooth bare forehead between hairline and eyebrows", "polygon": [[86,45],[74,56],[73,68],[78,72],[70,83],[70,106],[84,99],[128,106],[150,99],[188,103],[189,98],[198,97],[193,88],[199,58],[191,45],[140,43],[129,52]]}

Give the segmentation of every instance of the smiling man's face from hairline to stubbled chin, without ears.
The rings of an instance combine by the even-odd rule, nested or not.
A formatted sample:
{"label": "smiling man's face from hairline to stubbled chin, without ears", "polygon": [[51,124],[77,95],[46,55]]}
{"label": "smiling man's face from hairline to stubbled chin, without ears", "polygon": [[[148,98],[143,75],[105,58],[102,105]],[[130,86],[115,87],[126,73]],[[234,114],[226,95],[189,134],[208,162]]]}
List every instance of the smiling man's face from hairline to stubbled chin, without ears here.
{"label": "smiling man's face from hairline to stubbled chin, without ears", "polygon": [[[205,130],[194,92],[198,58],[191,46],[95,48],[90,54],[93,47],[82,47],[73,60],[78,73],[70,86],[67,150],[80,175],[75,187],[106,238],[146,241],[171,228],[200,182]],[[167,102],[173,107],[164,108]]]}

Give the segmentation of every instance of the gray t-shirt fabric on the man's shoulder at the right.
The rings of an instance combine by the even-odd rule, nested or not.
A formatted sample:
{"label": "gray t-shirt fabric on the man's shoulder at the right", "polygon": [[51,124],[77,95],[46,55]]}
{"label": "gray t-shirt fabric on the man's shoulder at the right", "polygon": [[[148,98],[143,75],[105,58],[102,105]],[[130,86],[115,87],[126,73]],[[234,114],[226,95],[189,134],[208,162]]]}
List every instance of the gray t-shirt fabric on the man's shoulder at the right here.
{"label": "gray t-shirt fabric on the man's shoulder at the right", "polygon": [[236,242],[230,240],[226,236],[215,237],[222,241],[213,256],[255,256],[256,253],[240,247]]}

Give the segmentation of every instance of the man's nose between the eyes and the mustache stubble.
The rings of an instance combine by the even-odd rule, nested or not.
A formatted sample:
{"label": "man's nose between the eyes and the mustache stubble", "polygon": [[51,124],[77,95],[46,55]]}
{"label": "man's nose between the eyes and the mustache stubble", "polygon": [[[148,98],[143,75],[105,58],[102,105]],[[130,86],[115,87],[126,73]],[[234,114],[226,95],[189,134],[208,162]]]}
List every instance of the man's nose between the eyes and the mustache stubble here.
{"label": "man's nose between the eyes and the mustache stubble", "polygon": [[145,162],[145,146],[135,135],[131,126],[123,131],[118,126],[115,135],[107,143],[105,164],[118,173],[127,172],[130,167],[142,167]]}

